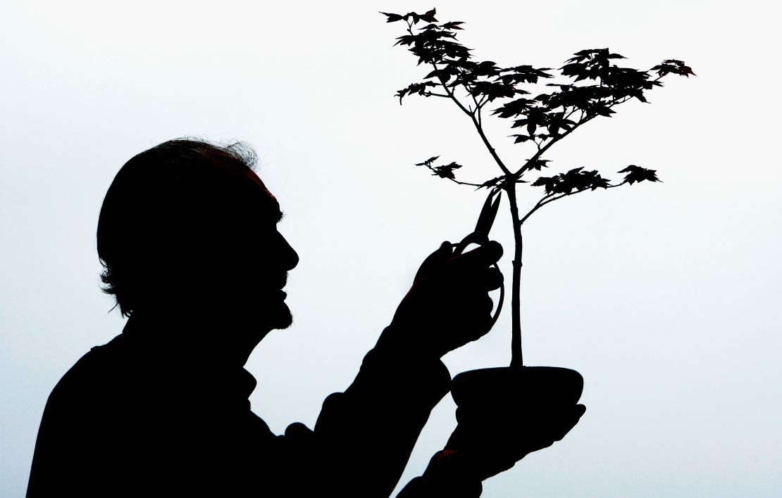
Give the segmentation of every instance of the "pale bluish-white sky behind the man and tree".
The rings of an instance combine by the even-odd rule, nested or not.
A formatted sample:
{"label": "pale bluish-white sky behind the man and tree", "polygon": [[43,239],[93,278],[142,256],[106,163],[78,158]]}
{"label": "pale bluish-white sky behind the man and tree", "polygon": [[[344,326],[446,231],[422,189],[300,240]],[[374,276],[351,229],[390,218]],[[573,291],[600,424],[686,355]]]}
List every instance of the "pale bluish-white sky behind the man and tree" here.
{"label": "pale bluish-white sky behind the man and tree", "polygon": [[[581,372],[587,414],[486,482],[484,496],[782,496],[778,7],[436,6],[439,20],[467,23],[460,40],[479,60],[558,67],[609,47],[628,66],[675,58],[698,73],[669,76],[650,105],[626,104],[552,150],[552,169],[610,176],[637,164],[665,183],[571,197],[526,223],[525,359]],[[99,208],[128,158],[170,138],[252,144],[300,254],[288,287],[296,321],[248,364],[253,409],[277,432],[311,426],[328,393],[350,383],[420,261],[468,233],[484,198],[412,163],[442,155],[465,164],[465,180],[496,176],[454,105],[393,98],[425,70],[392,48],[402,26],[377,11],[431,7],[0,5],[0,495],[26,489],[52,386],[122,329],[99,292]],[[529,157],[495,124],[500,155]],[[506,254],[508,223],[503,212],[493,232]],[[501,265],[509,276],[510,258]],[[449,354],[452,375],[507,365],[509,329],[505,312],[489,336]],[[454,425],[447,397],[403,483]]]}

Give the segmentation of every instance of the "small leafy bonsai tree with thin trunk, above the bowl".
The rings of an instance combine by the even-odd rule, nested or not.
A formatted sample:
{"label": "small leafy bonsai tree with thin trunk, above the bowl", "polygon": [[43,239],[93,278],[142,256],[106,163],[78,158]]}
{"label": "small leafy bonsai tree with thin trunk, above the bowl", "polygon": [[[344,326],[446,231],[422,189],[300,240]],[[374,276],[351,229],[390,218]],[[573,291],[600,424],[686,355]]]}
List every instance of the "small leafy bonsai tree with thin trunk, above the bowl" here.
{"label": "small leafy bonsai tree with thin trunk, above the bowl", "polygon": [[[683,61],[676,59],[666,59],[647,71],[617,66],[615,62],[625,58],[608,48],[576,52],[559,69],[497,66],[492,61],[473,60],[471,49],[457,41],[457,30],[461,30],[464,23],[440,23],[435,18],[435,9],[424,14],[380,13],[386,16],[388,23],[403,21],[407,24],[407,33],[397,37],[396,44],[409,47],[410,52],[418,57],[418,66],[423,65],[429,71],[421,82],[396,92],[400,105],[403,98],[414,94],[453,101],[475,127],[482,144],[500,170],[499,176],[483,183],[471,183],[457,180],[454,171],[460,169],[461,164],[440,162],[436,165],[439,155],[416,164],[453,183],[475,187],[476,190],[490,190],[481,216],[484,225],[485,213],[490,212],[490,208],[496,212],[497,201],[492,201],[493,197],[497,195],[498,198],[501,191],[508,196],[515,241],[511,282],[511,368],[520,368],[523,360],[519,293],[524,222],[543,206],[564,197],[644,181],[660,181],[654,169],[637,165],[620,169],[619,173],[624,173],[624,177],[617,183],[612,183],[597,170],[583,167],[569,169],[565,173],[544,173],[551,161],[544,159],[543,155],[580,126],[598,117],[611,117],[616,106],[632,99],[646,102],[645,92],[662,87],[661,80],[666,75],[689,77],[694,73]],[[547,83],[543,84],[543,81]],[[511,121],[511,129],[515,129],[516,133],[510,137],[515,144],[532,148],[532,157],[521,165],[500,158],[483,128],[487,111],[491,116]],[[523,214],[518,209],[516,191],[521,183],[542,190],[536,194],[540,200]],[[493,219],[493,215],[489,216]]]}

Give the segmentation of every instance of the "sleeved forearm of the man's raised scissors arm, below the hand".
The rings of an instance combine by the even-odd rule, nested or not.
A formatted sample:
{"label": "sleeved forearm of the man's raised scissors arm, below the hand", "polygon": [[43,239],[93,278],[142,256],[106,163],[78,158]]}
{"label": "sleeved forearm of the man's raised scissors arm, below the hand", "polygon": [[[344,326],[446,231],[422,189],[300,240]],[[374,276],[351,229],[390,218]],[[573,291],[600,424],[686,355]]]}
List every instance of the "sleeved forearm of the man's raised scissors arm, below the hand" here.
{"label": "sleeved forearm of the man's raised scissors arm, below the hand", "polygon": [[449,389],[450,374],[439,358],[375,347],[355,381],[329,396],[317,419],[318,443],[340,457],[327,478],[343,496],[389,496],[429,413]]}

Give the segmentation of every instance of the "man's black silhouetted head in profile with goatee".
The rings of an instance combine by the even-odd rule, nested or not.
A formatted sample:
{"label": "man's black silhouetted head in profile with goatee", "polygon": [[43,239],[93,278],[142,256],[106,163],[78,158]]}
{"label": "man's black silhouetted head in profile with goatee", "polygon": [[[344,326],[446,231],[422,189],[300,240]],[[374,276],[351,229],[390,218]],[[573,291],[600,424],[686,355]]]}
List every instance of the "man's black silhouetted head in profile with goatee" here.
{"label": "man's black silhouetted head in profile with goatee", "polygon": [[104,291],[123,315],[184,311],[285,328],[282,286],[298,255],[276,224],[277,200],[241,144],[167,141],[131,158],[98,222]]}

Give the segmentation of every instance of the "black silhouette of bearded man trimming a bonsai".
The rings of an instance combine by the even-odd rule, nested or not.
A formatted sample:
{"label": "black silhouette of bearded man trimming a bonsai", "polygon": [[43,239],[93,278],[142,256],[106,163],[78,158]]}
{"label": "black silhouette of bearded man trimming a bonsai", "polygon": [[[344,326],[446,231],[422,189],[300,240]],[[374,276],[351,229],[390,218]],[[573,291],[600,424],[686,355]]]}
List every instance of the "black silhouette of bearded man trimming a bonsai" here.
{"label": "black silhouette of bearded man trimming a bonsai", "polygon": [[[291,324],[282,288],[299,258],[278,233],[280,207],[252,165],[241,146],[178,140],[117,173],[100,213],[98,252],[105,290],[129,318],[52,391],[27,496],[392,492],[449,390],[439,358],[490,328],[488,292],[500,284],[490,265],[501,247],[454,257],[443,244],[432,253],[314,429],[295,423],[275,436],[250,410],[256,382],[243,366],[271,329]],[[402,495],[478,496],[482,478],[561,438],[581,413],[558,408],[535,428],[504,428],[483,448],[441,452]],[[530,430],[535,443],[525,446]],[[491,454],[508,450],[501,446],[515,456],[494,464]]]}

